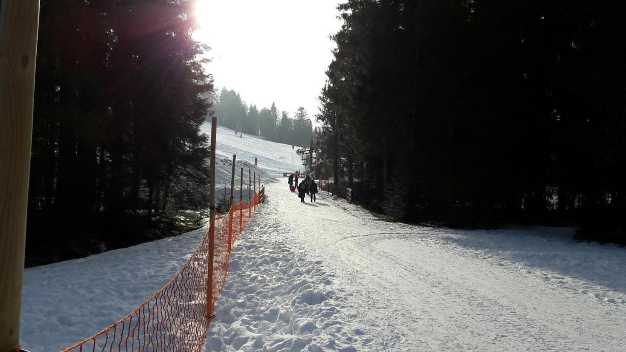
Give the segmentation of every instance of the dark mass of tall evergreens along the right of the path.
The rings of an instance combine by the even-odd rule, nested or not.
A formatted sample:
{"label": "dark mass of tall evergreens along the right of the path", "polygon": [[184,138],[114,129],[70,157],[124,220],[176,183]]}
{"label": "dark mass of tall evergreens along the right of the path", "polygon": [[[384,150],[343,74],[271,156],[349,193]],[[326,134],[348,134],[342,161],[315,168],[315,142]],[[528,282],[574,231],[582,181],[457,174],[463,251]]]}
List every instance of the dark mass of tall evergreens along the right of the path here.
{"label": "dark mass of tall evergreens along the right of the path", "polygon": [[626,3],[348,0],[322,154],[353,199],[626,243]]}

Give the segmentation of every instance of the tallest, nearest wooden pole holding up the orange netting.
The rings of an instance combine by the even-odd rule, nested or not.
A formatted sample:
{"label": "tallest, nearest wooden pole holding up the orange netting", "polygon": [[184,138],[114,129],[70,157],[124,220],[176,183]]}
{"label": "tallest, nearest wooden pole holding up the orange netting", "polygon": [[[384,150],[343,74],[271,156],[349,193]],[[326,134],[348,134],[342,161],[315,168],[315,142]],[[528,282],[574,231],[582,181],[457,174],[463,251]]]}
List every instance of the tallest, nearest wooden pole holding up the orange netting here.
{"label": "tallest, nearest wooden pole holding up the orange netting", "polygon": [[217,132],[217,117],[211,117],[211,185],[209,194],[208,225],[208,282],[207,282],[207,319],[213,314],[213,256],[215,254],[215,135]]}

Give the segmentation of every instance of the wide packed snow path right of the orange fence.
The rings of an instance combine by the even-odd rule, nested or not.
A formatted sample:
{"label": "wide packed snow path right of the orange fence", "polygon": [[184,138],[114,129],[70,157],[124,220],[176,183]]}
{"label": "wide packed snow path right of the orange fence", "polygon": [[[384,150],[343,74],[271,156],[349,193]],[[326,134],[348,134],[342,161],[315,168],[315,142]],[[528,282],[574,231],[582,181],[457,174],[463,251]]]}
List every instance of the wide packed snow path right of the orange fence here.
{"label": "wide packed snow path right of the orange fence", "polygon": [[285,179],[233,247],[209,351],[626,351],[626,250],[384,222]]}

